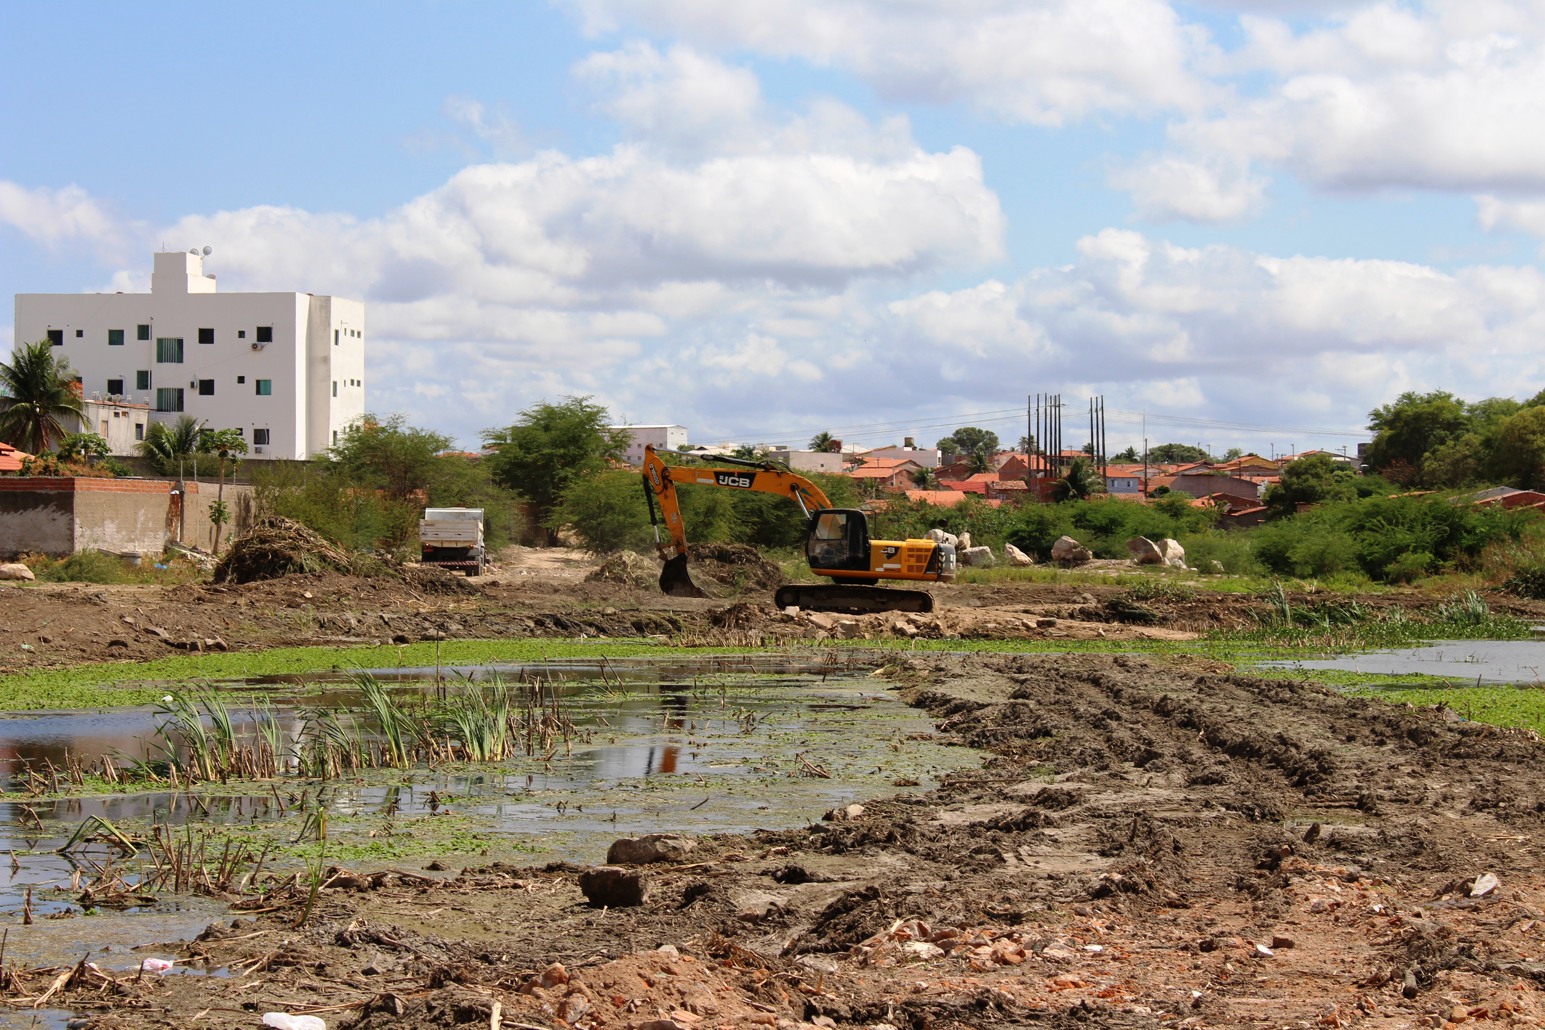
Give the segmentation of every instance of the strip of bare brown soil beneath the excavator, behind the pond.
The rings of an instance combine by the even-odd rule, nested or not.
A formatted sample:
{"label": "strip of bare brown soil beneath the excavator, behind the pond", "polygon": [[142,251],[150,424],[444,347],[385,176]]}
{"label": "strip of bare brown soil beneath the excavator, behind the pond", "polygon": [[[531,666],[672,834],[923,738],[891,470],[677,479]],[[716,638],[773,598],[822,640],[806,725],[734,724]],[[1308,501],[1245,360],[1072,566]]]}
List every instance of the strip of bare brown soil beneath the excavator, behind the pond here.
{"label": "strip of bare brown soil beneath the excavator, behind the pond", "polygon": [[[705,550],[689,567],[725,596],[671,598],[652,585],[587,581],[599,559],[565,548],[511,548],[499,571],[467,579],[436,568],[295,573],[181,587],[0,582],[0,675],[179,650],[405,644],[522,636],[638,638],[749,645],[825,638],[1190,639],[1247,629],[1251,595],[1183,591],[1136,601],[1125,587],[935,584],[929,616],[813,618],[772,608],[780,570],[752,548]],[[654,559],[644,559],[658,568]],[[380,565],[379,562],[375,562]],[[371,571],[369,562],[360,571]],[[1295,605],[1324,595],[1290,595]],[[1420,612],[1418,591],[1367,595],[1364,607]],[[1545,602],[1488,596],[1494,610],[1545,618]],[[25,647],[23,647],[25,645]]]}

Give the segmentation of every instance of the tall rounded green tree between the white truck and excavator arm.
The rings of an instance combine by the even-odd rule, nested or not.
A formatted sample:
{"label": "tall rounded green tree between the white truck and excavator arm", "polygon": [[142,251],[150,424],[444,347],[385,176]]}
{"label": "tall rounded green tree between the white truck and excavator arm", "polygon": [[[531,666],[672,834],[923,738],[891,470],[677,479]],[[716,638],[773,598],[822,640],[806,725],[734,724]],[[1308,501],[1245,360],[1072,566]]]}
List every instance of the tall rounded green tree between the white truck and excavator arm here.
{"label": "tall rounded green tree between the white truck and excavator arm", "polygon": [[558,405],[531,405],[510,428],[484,431],[482,440],[496,448],[487,459],[494,482],[535,505],[538,525],[547,528],[548,545],[556,545],[552,517],[558,500],[579,477],[621,462],[630,434],[610,428],[606,408],[589,397],[565,397]]}

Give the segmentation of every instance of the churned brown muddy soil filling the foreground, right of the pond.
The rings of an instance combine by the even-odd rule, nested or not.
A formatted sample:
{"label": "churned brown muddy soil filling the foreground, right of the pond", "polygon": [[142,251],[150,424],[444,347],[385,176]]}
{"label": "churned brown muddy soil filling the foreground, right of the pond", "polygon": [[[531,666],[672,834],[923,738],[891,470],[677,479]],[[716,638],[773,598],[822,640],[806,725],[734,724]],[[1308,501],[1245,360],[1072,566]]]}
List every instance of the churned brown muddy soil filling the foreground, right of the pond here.
{"label": "churned brown muddy soil filling the foreground, right of the pond", "polygon": [[705,840],[647,871],[643,905],[589,906],[561,863],[358,869],[379,874],[340,876],[301,928],[284,889],[181,948],[236,976],[82,976],[70,998],[116,993],[94,1027],[306,1007],[362,1030],[1540,1024],[1533,732],[1126,656],[888,675],[995,757]]}

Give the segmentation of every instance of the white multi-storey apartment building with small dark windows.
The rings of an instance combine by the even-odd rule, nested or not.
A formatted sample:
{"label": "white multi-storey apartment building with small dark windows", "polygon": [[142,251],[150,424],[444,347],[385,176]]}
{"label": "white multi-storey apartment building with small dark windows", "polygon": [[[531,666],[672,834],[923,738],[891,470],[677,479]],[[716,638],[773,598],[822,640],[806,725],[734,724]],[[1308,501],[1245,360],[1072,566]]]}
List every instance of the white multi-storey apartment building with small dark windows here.
{"label": "white multi-storey apartment building with small dark windows", "polygon": [[[216,293],[195,250],[158,253],[148,293],[17,293],[14,340],[45,338],[87,400],[238,429],[250,457],[312,457],[365,414],[363,303]],[[127,417],[142,439],[141,418]]]}

